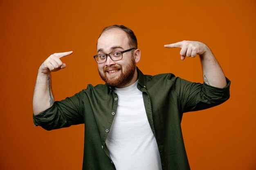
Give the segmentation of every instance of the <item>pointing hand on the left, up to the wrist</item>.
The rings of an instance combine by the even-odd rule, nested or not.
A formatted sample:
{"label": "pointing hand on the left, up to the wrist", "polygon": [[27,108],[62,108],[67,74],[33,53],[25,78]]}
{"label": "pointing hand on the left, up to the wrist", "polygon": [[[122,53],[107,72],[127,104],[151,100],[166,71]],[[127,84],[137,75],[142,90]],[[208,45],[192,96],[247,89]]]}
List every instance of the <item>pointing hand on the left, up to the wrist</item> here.
{"label": "pointing hand on the left, up to the wrist", "polygon": [[43,73],[45,75],[53,72],[58,71],[66,67],[66,64],[63,63],[60,58],[65,57],[67,55],[72,54],[73,51],[68,51],[64,53],[54,53],[50,55],[43,64],[39,67],[39,73]]}

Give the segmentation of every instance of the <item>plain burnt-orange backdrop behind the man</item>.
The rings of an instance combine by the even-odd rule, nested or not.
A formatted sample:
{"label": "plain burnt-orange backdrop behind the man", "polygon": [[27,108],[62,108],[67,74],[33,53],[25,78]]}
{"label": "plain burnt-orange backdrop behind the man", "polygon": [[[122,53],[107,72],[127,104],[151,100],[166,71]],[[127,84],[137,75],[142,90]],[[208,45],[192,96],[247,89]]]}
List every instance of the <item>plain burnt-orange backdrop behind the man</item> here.
{"label": "plain burnt-orange backdrop behind the man", "polygon": [[231,80],[231,98],[184,114],[191,169],[256,169],[255,0],[1,0],[0,24],[1,170],[81,170],[84,126],[34,128],[34,84],[49,55],[70,50],[67,68],[52,74],[55,100],[103,83],[92,56],[101,29],[112,24],[137,35],[144,74],[202,82],[198,57],[181,61],[180,49],[163,45],[196,40],[211,48]]}

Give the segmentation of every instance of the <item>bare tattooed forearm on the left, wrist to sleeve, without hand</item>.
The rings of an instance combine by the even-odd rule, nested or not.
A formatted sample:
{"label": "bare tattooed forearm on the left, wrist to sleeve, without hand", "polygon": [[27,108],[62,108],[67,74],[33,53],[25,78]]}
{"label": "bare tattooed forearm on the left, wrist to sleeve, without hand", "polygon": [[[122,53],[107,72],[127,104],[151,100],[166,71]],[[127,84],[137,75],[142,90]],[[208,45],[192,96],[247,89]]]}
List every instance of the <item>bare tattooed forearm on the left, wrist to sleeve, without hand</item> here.
{"label": "bare tattooed forearm on the left, wrist to sleeve, without hand", "polygon": [[38,72],[33,95],[33,113],[38,115],[54,103],[51,90],[51,78],[49,74]]}

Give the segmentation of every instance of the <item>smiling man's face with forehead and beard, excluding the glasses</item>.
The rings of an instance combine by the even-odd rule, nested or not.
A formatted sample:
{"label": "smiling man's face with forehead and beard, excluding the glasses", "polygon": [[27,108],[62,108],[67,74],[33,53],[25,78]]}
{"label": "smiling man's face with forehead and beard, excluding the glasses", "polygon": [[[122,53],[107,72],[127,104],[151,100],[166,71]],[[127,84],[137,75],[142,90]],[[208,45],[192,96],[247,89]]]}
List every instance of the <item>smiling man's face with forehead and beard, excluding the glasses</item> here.
{"label": "smiling man's face with forehead and beard, excluding the glasses", "polygon": [[[98,39],[98,54],[106,54],[115,51],[130,49],[129,39],[121,29],[109,29],[103,32]],[[108,56],[107,61],[98,64],[99,75],[110,86],[126,87],[133,83],[136,72],[136,63],[133,57],[133,50],[123,53],[123,58],[113,61]],[[136,81],[135,80],[135,81]]]}

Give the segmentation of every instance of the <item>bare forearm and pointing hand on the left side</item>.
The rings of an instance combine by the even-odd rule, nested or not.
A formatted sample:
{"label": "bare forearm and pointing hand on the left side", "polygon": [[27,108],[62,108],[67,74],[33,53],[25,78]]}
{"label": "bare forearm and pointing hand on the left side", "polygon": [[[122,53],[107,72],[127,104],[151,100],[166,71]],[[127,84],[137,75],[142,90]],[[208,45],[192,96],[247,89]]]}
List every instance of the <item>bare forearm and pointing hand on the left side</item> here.
{"label": "bare forearm and pointing hand on the left side", "polygon": [[54,53],[50,55],[38,69],[36,85],[33,95],[33,113],[38,115],[54,103],[51,87],[51,72],[59,71],[66,67],[60,58],[72,54],[73,51]]}

